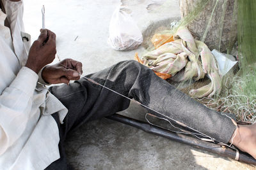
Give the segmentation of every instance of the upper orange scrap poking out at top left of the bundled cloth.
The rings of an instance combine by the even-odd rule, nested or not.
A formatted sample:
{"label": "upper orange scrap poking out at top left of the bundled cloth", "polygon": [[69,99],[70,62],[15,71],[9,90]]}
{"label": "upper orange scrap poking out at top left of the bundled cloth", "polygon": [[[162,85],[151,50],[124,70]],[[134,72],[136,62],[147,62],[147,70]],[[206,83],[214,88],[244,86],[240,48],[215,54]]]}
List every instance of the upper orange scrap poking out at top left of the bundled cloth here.
{"label": "upper orange scrap poking out at top left of the bundled cloth", "polygon": [[151,39],[151,42],[155,46],[155,48],[159,48],[159,46],[164,45],[166,43],[170,43],[174,41],[172,34],[154,34]]}

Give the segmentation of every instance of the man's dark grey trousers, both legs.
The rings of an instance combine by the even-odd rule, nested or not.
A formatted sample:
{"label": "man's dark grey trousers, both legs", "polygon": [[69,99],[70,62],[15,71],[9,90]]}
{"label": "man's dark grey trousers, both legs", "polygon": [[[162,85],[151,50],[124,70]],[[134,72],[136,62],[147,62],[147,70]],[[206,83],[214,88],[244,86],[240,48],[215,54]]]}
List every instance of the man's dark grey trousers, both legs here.
{"label": "man's dark grey trousers, both legs", "polygon": [[[230,118],[197,103],[136,61],[119,62],[86,77],[211,136],[216,141],[228,143],[236,129]],[[70,85],[51,87],[49,90],[67,107],[68,114],[64,124],[58,121],[58,114],[52,115],[60,129],[61,158],[52,162],[47,169],[68,169],[63,147],[68,131],[90,120],[125,110],[130,103],[129,99],[85,78]],[[158,113],[154,114],[161,117]]]}

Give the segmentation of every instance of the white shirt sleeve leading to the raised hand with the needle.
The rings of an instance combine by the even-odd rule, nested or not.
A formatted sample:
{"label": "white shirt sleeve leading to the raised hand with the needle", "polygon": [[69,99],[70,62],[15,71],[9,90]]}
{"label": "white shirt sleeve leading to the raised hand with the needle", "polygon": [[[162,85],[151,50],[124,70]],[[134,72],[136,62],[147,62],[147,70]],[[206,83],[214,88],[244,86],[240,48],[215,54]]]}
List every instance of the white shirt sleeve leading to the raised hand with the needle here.
{"label": "white shirt sleeve leading to the raised hand with the needle", "polygon": [[38,75],[22,67],[0,96],[0,155],[22,135],[31,112]]}

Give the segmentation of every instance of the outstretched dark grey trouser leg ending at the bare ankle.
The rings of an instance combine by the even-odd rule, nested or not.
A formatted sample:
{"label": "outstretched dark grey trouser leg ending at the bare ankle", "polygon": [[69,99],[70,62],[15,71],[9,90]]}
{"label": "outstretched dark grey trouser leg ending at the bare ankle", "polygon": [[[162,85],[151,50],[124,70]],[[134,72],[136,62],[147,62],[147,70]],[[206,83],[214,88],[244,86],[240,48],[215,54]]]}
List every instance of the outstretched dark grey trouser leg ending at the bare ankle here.
{"label": "outstretched dark grey trouser leg ending at the bare ankle", "polygon": [[[108,69],[108,76],[104,72],[106,71],[92,74],[90,78],[163,113],[166,117],[173,118],[211,136],[216,141],[228,143],[236,129],[236,125],[229,117],[191,99],[136,61],[116,64]],[[98,106],[108,107],[109,104],[109,108],[112,108],[111,106],[117,104],[115,99],[126,100],[107,89],[102,89],[102,92],[106,94],[106,97],[99,99],[100,103],[104,104],[99,103]],[[106,101],[111,102],[106,103]],[[97,110],[97,108],[95,109]],[[105,110],[100,108],[100,110],[102,109]],[[104,117],[109,114],[113,114],[113,112],[99,111],[98,114],[92,115],[92,118]],[[161,117],[161,115],[159,116]]]}

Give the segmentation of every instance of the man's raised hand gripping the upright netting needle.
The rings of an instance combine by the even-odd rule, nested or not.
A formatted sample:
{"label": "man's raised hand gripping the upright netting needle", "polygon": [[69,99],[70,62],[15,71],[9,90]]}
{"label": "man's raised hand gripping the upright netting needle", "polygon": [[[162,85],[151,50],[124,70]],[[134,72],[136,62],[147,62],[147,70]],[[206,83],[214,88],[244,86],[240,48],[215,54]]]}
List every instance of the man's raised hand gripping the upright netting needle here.
{"label": "man's raised hand gripping the upright netting needle", "polygon": [[42,29],[38,39],[29,50],[26,67],[29,67],[36,74],[42,67],[50,64],[56,54],[56,35],[48,29]]}

